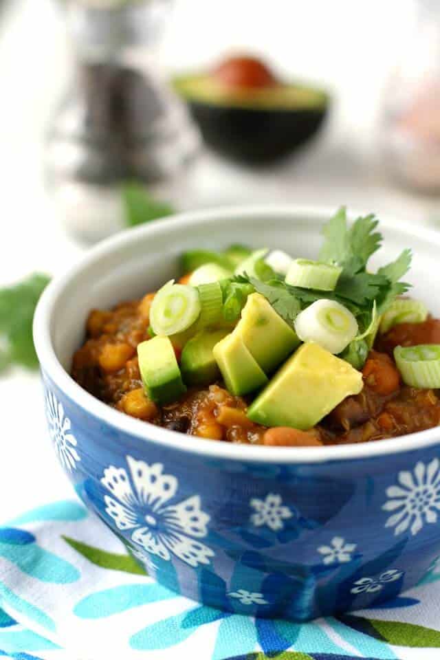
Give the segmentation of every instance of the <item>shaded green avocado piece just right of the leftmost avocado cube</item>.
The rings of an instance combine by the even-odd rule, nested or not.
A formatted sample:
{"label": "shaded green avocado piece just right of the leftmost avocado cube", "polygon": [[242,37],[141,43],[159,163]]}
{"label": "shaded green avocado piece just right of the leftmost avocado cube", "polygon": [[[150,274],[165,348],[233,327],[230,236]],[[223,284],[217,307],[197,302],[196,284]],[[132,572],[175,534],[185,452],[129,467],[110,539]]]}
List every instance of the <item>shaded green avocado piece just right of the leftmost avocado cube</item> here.
{"label": "shaded green avocado piece just right of the leftmost avocado cube", "polygon": [[212,349],[228,334],[228,330],[202,330],[185,344],[180,368],[188,385],[210,385],[220,376]]}

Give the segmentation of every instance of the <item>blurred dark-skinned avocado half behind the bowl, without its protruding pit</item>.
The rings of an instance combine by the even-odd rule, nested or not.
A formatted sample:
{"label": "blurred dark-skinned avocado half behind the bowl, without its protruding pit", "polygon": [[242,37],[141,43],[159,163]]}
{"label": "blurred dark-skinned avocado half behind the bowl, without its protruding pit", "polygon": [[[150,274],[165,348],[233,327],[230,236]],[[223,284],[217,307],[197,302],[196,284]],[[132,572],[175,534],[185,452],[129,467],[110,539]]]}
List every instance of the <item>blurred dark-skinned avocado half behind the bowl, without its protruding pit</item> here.
{"label": "blurred dark-skinned avocado half behind the bowl, without its protruding pit", "polygon": [[203,140],[214,151],[247,164],[270,164],[292,154],[324,122],[329,98],[303,85],[225,89],[208,75],[173,80]]}

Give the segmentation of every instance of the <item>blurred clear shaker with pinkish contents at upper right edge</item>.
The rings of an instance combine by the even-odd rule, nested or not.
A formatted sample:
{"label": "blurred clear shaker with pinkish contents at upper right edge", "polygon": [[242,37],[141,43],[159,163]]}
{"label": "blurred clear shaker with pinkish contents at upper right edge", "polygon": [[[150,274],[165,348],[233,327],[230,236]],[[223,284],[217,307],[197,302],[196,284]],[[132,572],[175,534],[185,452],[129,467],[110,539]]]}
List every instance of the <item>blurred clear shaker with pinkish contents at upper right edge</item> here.
{"label": "blurred clear shaker with pinkish contents at upper right edge", "polygon": [[417,10],[384,92],[382,146],[401,184],[440,194],[440,4],[419,0]]}

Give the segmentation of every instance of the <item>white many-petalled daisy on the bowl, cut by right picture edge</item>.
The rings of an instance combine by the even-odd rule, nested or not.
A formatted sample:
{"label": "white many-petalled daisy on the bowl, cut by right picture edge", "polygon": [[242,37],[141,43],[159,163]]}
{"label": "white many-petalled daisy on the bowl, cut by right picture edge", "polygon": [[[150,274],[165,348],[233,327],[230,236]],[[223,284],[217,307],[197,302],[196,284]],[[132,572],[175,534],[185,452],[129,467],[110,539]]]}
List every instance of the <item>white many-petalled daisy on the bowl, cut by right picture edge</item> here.
{"label": "white many-petalled daisy on the bowl, cut by right picture edge", "polygon": [[397,476],[399,485],[386,489],[388,501],[384,511],[395,511],[385,527],[395,527],[395,536],[410,527],[415,536],[425,522],[437,522],[440,510],[440,462],[432,459],[428,465],[419,461],[411,472],[402,471]]}

